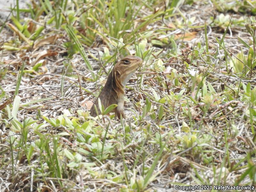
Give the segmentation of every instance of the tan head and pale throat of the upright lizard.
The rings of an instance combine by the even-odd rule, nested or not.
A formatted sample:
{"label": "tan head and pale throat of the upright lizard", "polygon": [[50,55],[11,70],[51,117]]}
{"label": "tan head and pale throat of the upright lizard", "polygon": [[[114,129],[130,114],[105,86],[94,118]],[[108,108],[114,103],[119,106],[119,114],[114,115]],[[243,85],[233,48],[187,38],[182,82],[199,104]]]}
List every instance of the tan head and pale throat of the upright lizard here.
{"label": "tan head and pale throat of the upright lizard", "polygon": [[[116,63],[114,67],[114,78],[122,87],[129,81],[134,72],[142,65],[143,60],[137,56],[126,56]],[[122,88],[120,87],[120,88]]]}

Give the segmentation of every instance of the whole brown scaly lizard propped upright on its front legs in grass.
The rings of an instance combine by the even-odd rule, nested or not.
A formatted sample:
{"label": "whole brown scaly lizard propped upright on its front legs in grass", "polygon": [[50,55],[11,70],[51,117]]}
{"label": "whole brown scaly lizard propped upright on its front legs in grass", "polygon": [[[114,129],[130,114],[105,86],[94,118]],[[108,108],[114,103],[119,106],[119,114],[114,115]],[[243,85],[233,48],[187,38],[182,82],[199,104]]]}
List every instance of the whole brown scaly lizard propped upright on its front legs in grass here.
{"label": "whole brown scaly lizard propped upright on its front legs in grass", "polygon": [[[124,86],[129,81],[134,72],[141,66],[142,59],[136,56],[126,56],[121,61],[116,63],[113,70],[108,75],[108,80],[102,89],[98,98],[100,98],[101,105],[106,109],[112,104],[117,104],[114,109],[116,116],[120,119],[120,115],[125,118],[124,114]],[[97,116],[94,105],[96,105],[98,113],[100,108],[98,98],[95,100],[90,110],[91,116]]]}

